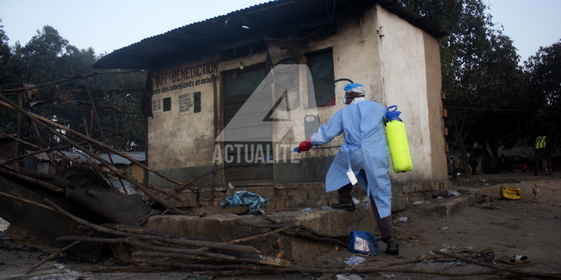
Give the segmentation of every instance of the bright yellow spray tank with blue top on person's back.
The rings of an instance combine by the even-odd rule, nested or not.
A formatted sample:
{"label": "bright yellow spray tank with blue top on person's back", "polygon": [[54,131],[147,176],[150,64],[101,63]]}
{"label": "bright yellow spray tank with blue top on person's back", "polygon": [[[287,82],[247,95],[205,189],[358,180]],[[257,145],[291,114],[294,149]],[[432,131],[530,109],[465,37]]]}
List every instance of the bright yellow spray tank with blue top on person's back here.
{"label": "bright yellow spray tank with blue top on person's back", "polygon": [[[390,109],[393,111],[390,111]],[[407,141],[407,132],[405,125],[399,119],[398,106],[390,106],[386,109],[386,134],[388,136],[388,145],[390,146],[391,163],[393,172],[407,172],[413,169],[411,161],[411,153],[409,151],[409,142]]]}

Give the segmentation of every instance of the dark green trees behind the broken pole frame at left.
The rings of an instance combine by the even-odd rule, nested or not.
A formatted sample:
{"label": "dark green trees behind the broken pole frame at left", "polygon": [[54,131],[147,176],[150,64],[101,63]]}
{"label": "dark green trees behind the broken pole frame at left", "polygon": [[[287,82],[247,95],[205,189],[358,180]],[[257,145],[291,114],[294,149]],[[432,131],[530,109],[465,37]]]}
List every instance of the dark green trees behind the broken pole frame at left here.
{"label": "dark green trees behind the broken pole frame at left", "polygon": [[[0,27],[0,39],[2,46],[8,38],[4,34],[4,29]],[[5,44],[7,46],[7,43]],[[4,50],[0,48],[0,50]],[[1,52],[4,53],[4,52]],[[78,49],[74,45],[60,36],[58,31],[48,25],[43,29],[37,30],[37,34],[25,45],[16,42],[11,50],[8,48],[8,58],[0,57],[0,63],[6,60],[6,73],[2,80],[6,83],[48,83],[53,80],[60,80],[76,73],[90,73],[98,71],[91,69],[97,59],[93,48]],[[4,64],[1,64],[4,65]],[[121,71],[120,69],[114,71]],[[4,72],[4,71],[3,71]],[[2,78],[0,76],[0,78]],[[141,89],[144,87],[146,73],[143,71],[136,73],[125,73],[119,75],[99,75],[90,77],[88,84],[90,88],[107,90],[104,99],[95,100],[97,107],[115,108],[125,112],[140,113],[142,109],[142,92],[130,91],[131,89]],[[85,80],[71,80],[64,85],[85,86]],[[121,90],[117,93],[115,90]],[[128,90],[122,92],[122,90]],[[11,97],[16,102],[15,97]],[[17,102],[16,102],[17,103]],[[66,125],[72,130],[85,134],[86,127],[83,118],[88,122],[88,130],[93,121],[93,138],[101,137],[95,120],[90,118],[90,103],[88,100],[66,104],[39,104],[32,108],[34,113],[39,114],[50,120],[54,120],[62,125]],[[130,113],[109,113],[97,111],[100,118],[103,134],[113,134],[119,132],[126,135],[126,138],[113,137],[107,139],[107,143],[120,151],[144,151],[145,125],[144,117],[141,114]],[[15,112],[0,108],[1,132],[15,133],[17,130],[17,118]],[[29,136],[29,131],[34,130],[25,121],[24,135]],[[49,146],[63,145],[59,139],[50,135],[42,127],[39,127],[39,134],[46,140]]]}

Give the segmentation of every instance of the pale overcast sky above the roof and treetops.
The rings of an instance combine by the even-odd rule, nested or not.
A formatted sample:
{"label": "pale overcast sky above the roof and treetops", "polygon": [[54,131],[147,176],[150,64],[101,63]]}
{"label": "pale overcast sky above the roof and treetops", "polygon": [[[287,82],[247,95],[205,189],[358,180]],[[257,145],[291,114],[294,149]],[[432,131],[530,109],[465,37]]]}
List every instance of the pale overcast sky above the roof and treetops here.
{"label": "pale overcast sky above the roof and treetops", "polygon": [[[522,61],[561,39],[561,0],[485,1]],[[0,0],[0,18],[10,45],[18,40],[25,45],[37,29],[50,25],[72,45],[99,54],[258,3],[264,1]]]}

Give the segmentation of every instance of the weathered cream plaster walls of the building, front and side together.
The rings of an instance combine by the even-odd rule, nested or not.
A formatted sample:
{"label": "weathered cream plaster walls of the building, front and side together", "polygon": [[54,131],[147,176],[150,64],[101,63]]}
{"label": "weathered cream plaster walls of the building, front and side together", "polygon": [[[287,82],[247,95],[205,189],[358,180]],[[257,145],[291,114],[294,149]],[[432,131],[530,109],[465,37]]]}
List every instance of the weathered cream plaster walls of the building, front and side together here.
{"label": "weathered cream plaster walls of the building, front and side together", "polygon": [[[383,27],[383,28],[382,28]],[[380,37],[384,35],[383,37]],[[255,39],[255,38],[254,38]],[[156,111],[154,118],[149,120],[149,165],[177,181],[190,181],[196,176],[212,169],[214,152],[214,99],[210,73],[204,66],[212,64],[212,73],[217,77],[217,108],[218,129],[222,127],[222,73],[238,69],[241,62],[246,67],[264,64],[266,52],[254,53],[246,57],[238,57],[224,62],[217,62],[221,49],[250,43],[245,41],[229,42],[224,45],[210,46],[205,54],[184,54],[177,59],[168,59],[157,69],[157,83],[154,100],[171,98],[170,111]],[[381,6],[372,6],[358,17],[347,17],[337,20],[337,34],[312,41],[306,49],[308,52],[332,49],[334,59],[334,78],[350,78],[356,83],[367,87],[367,99],[374,99],[384,106],[398,105],[403,111],[402,118],[407,128],[414,170],[405,174],[393,174],[392,181],[417,182],[428,180],[444,180],[446,174],[444,144],[442,139],[442,120],[440,116],[440,62],[438,42],[410,25],[398,16],[389,13]],[[291,57],[287,50],[269,47],[271,61]],[[196,59],[194,57],[197,57]],[[297,57],[300,63],[306,64],[306,56]],[[194,71],[195,70],[195,71]],[[192,73],[196,73],[193,78]],[[189,72],[188,75],[185,73]],[[177,74],[180,73],[180,74]],[[302,76],[305,73],[301,73]],[[189,76],[189,78],[187,78]],[[180,78],[178,78],[180,77]],[[205,83],[201,83],[205,80]],[[330,117],[344,106],[341,97],[344,95],[345,82],[335,86],[336,98],[334,106],[311,108],[306,84],[300,84],[299,108],[290,111],[290,117],[302,121],[304,116],[317,114],[320,123],[325,124]],[[174,89],[173,85],[188,85]],[[165,91],[162,89],[169,88]],[[201,112],[180,116],[180,94],[201,92]],[[282,131],[284,122],[273,123],[273,133]],[[278,136],[278,135],[276,135]],[[292,126],[285,135],[273,142],[273,154],[282,152],[282,144],[295,145],[304,140],[304,126]],[[344,141],[343,135],[336,137],[329,146],[338,146]],[[279,148],[277,148],[279,147]],[[224,146],[222,146],[224,151]],[[299,164],[276,162],[273,165],[275,184],[321,182],[329,168],[337,148],[312,150],[309,153],[292,154]],[[442,155],[440,155],[442,154]],[[442,162],[441,162],[442,161]],[[441,167],[442,165],[442,167]],[[219,166],[219,165],[218,165]],[[217,186],[227,185],[222,174],[217,174]],[[197,187],[210,186],[212,177],[208,176],[197,182]],[[149,183],[159,188],[172,188],[173,184],[150,175]]]}

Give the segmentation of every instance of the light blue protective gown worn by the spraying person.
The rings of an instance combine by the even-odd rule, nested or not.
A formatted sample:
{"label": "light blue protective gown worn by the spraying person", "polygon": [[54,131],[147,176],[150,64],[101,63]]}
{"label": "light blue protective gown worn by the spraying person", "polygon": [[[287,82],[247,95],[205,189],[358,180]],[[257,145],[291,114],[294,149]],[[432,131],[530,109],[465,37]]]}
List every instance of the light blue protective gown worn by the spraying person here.
{"label": "light blue protective gown worn by the spraying person", "polygon": [[[339,190],[351,183],[346,175],[349,166],[365,188],[364,167],[368,181],[365,188],[372,194],[380,218],[391,215],[391,181],[388,175],[389,149],[384,121],[386,109],[377,102],[364,100],[340,109],[327,125],[321,125],[311,137],[313,146],[329,143],[344,133],[345,142],[335,156],[325,178],[327,192]],[[370,204],[370,202],[369,202]]]}

